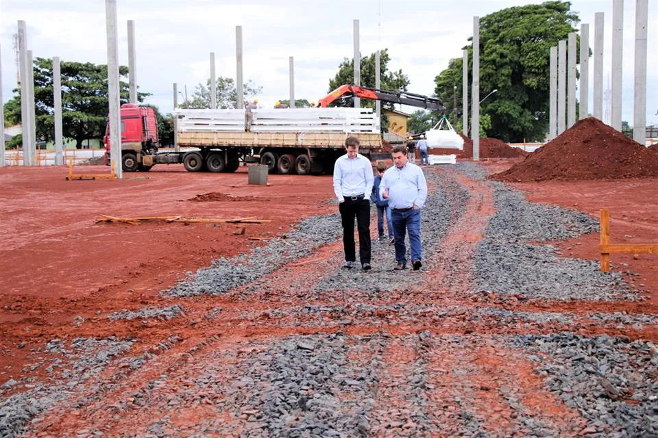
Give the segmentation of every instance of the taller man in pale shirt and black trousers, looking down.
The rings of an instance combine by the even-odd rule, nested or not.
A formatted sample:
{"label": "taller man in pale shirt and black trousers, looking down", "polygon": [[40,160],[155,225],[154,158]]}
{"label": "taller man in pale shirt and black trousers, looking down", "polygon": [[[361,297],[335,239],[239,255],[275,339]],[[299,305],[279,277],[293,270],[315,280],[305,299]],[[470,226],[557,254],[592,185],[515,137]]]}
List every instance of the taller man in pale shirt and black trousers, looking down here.
{"label": "taller man in pale shirt and black trousers, looking down", "polygon": [[334,164],[334,193],[338,198],[343,223],[343,250],[345,264],[350,269],[356,265],[354,248],[354,218],[358,229],[358,255],[363,270],[370,270],[370,193],[374,175],[370,160],[358,153],[358,138],[345,139],[347,153]]}

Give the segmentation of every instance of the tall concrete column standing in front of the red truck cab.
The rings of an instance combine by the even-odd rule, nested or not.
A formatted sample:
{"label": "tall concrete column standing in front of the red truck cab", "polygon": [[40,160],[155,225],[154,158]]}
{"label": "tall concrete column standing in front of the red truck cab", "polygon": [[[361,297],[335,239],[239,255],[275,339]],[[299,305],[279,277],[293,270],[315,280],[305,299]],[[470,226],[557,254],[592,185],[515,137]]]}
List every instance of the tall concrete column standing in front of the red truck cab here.
{"label": "tall concrete column standing in front of the red truck cab", "polygon": [[110,157],[114,175],[123,178],[121,157],[121,103],[119,101],[119,49],[117,40],[117,0],[105,0],[105,18],[108,39],[108,97],[110,112]]}

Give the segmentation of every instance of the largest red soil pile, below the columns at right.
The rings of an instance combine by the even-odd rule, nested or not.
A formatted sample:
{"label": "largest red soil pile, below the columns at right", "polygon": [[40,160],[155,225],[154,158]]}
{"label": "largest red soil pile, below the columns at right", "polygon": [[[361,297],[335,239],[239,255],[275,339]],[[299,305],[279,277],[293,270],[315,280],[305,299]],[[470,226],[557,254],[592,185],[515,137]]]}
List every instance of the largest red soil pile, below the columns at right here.
{"label": "largest red soil pile, below the columns at right", "polygon": [[579,120],[522,162],[490,178],[520,182],[647,177],[658,177],[656,154],[589,117]]}

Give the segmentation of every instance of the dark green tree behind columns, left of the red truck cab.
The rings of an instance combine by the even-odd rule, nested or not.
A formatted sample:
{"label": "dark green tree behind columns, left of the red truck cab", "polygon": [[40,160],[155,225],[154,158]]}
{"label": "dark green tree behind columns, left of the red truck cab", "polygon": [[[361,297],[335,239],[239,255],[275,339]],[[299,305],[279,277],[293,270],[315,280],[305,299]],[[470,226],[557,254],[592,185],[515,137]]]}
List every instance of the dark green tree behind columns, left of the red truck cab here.
{"label": "dark green tree behind columns, left of the red truck cab", "polygon": [[[53,63],[37,57],[34,60],[34,115],[39,141],[54,139]],[[90,62],[62,62],[62,133],[75,139],[75,147],[82,149],[84,140],[102,138],[108,118],[108,66]],[[119,79],[126,79],[128,68],[119,67]],[[127,81],[120,81],[121,104],[129,97]],[[19,93],[19,90],[14,90]],[[149,93],[138,92],[138,101]],[[21,95],[17,94],[5,108],[11,111],[10,122],[20,123]],[[18,112],[16,112],[16,109]]]}

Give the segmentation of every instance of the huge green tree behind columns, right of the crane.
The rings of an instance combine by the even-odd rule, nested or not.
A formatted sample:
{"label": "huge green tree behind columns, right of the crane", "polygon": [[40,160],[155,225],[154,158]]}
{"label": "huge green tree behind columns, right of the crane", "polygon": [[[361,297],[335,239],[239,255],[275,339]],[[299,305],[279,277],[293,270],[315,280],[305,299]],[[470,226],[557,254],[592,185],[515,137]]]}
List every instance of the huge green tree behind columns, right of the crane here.
{"label": "huge green tree behind columns, right of the crane", "polygon": [[[546,1],[493,12],[480,18],[480,97],[498,89],[480,107],[491,117],[488,136],[505,142],[543,140],[548,131],[550,47],[577,31],[578,14],[569,1]],[[472,44],[469,72],[472,71]],[[576,51],[577,52],[577,51]],[[435,78],[435,94],[450,113],[456,93],[455,114],[460,114],[462,60],[450,60]],[[469,74],[469,83],[472,83]],[[454,88],[456,86],[456,89]],[[469,108],[472,102],[470,102]],[[482,123],[484,126],[484,123]]]}

